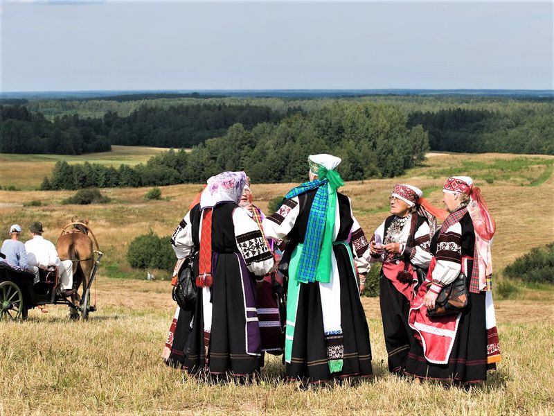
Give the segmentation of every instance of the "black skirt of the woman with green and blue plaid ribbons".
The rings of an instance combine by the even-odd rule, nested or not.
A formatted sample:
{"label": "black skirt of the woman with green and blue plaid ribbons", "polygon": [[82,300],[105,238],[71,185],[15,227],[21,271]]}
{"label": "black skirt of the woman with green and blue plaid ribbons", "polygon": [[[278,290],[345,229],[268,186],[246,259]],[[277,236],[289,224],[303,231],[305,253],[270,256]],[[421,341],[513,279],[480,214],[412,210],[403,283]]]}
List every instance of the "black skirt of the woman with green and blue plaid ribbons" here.
{"label": "black skirt of the woman with green and blue plaid ribbons", "polygon": [[335,245],[333,251],[341,287],[342,370],[330,372],[323,331],[322,307],[325,305],[321,305],[319,283],[307,283],[301,284],[298,293],[291,363],[286,366],[288,379],[319,383],[334,377],[373,375],[369,329],[350,257],[343,245]]}

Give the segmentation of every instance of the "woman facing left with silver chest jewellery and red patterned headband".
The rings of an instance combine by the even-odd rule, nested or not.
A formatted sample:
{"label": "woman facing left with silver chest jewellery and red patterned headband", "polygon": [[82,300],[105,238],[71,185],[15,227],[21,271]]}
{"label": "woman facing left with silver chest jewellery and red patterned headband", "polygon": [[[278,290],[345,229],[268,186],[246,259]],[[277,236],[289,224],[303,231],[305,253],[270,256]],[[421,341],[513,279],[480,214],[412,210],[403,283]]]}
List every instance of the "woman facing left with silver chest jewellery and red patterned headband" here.
{"label": "woman facing left with silver chest jewellery and red patterned headband", "polygon": [[375,230],[370,241],[374,261],[382,261],[379,279],[379,304],[383,319],[388,370],[403,374],[406,358],[415,343],[408,326],[410,301],[417,290],[417,268],[427,270],[431,261],[429,243],[436,229],[436,216],[446,211],[432,207],[422,191],[396,184],[391,197],[391,216]]}

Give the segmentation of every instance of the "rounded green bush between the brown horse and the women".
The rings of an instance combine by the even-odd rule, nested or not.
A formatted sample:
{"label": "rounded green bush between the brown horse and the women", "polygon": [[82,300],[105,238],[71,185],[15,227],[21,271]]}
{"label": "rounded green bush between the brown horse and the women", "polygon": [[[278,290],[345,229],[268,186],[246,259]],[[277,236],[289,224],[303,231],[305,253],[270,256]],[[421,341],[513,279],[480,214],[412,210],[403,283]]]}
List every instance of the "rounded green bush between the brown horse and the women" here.
{"label": "rounded green bush between the brown horse and the women", "polygon": [[158,268],[173,270],[175,252],[168,236],[160,238],[152,230],[148,234],[136,237],[127,250],[127,261],[134,268]]}

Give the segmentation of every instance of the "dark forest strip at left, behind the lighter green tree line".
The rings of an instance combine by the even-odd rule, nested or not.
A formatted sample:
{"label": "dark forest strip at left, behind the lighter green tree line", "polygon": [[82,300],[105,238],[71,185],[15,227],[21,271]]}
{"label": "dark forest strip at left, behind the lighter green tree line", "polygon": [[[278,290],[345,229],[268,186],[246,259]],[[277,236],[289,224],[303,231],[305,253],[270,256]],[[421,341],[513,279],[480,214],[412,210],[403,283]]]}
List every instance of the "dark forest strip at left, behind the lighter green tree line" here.
{"label": "dark forest strip at left, behind the lighter green tree line", "polygon": [[48,121],[24,105],[0,105],[0,153],[82,155],[107,151],[111,144],[187,148],[224,135],[233,123],[247,128],[276,122],[283,115],[256,105],[142,105],[129,116],[107,112],[101,119],[77,114]]}

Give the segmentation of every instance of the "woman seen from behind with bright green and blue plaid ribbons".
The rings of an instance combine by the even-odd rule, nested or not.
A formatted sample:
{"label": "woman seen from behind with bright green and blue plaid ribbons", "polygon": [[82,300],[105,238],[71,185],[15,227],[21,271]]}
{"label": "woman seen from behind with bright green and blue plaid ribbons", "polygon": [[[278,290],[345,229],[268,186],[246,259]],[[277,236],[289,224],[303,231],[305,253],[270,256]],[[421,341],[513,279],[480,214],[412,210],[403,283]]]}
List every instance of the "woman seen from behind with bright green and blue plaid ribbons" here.
{"label": "woman seen from behind with bright green and blue plaid ribbons", "polygon": [[[289,379],[318,383],[371,376],[371,348],[353,257],[369,269],[369,244],[352,216],[335,168],[341,159],[310,155],[310,182],[289,191],[263,220],[267,238],[288,239],[285,362]],[[354,252],[352,253],[352,245]]]}

